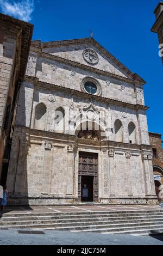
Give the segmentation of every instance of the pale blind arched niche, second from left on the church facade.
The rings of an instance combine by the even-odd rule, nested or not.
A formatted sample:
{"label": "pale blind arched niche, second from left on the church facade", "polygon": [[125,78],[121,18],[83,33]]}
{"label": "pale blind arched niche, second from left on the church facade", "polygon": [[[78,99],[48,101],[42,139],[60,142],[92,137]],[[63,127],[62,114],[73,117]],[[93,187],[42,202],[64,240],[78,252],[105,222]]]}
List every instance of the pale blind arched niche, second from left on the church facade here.
{"label": "pale blind arched niche, second from left on the church facade", "polygon": [[64,109],[58,107],[55,110],[54,132],[64,133],[65,131],[65,112]]}

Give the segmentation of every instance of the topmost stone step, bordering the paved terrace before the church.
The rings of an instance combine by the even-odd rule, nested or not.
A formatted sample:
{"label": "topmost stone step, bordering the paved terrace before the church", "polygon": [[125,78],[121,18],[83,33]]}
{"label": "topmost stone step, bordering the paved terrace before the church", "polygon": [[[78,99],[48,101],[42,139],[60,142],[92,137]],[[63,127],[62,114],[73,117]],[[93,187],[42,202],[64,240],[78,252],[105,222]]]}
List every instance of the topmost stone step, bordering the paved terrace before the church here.
{"label": "topmost stone step, bordering the paved terrace before the church", "polygon": [[[78,217],[78,218],[77,218]],[[24,216],[24,217],[3,217],[3,218],[0,218],[0,225],[2,222],[15,222],[15,221],[43,221],[43,220],[53,220],[55,222],[59,222],[59,221],[62,221],[62,222],[66,222],[66,221],[96,221],[96,220],[109,220],[109,221],[116,221],[116,220],[129,220],[130,218],[134,220],[137,220],[137,219],[143,219],[143,218],[148,218],[148,219],[153,219],[153,218],[163,218],[163,215],[137,215],[137,216],[117,216],[117,217],[109,217],[109,216],[97,216],[97,215],[93,215],[93,216],[74,216],[72,218],[70,218],[70,216],[61,216],[61,217],[56,217],[56,216]]]}

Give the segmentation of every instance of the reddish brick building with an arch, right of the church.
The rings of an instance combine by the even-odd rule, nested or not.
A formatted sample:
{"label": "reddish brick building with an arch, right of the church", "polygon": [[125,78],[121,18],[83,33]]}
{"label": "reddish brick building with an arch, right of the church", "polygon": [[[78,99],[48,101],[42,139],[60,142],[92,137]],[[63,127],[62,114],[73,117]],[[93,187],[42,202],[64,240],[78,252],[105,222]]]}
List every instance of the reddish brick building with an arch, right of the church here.
{"label": "reddish brick building with an arch, right of the church", "polygon": [[[163,185],[163,150],[162,150],[161,135],[159,133],[149,132],[149,141],[153,149],[152,163],[153,163],[155,188],[157,193],[160,191],[158,189],[159,186]],[[159,199],[161,200],[161,198]],[[162,201],[163,201],[163,195],[162,195]]]}

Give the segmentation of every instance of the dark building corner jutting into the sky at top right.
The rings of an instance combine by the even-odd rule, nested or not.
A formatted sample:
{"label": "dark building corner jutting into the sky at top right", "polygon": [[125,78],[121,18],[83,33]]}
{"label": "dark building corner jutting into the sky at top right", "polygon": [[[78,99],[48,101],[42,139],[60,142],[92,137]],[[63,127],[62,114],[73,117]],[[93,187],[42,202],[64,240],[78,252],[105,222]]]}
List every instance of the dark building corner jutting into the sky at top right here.
{"label": "dark building corner jutting into the sky at top right", "polygon": [[156,9],[154,10],[154,14],[156,17],[156,21],[152,27],[152,32],[158,34],[158,39],[159,39],[159,48],[160,54],[159,56],[162,57],[162,64],[163,64],[163,2],[160,2]]}

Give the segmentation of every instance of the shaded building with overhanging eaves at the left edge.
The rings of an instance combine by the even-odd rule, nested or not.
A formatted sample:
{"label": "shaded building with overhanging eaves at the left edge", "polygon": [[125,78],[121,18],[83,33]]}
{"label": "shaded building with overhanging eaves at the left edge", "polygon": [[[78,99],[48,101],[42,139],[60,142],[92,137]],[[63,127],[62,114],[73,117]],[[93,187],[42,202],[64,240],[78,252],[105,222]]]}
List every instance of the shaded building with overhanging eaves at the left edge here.
{"label": "shaded building with overhanging eaves at the left edge", "polygon": [[[6,176],[11,124],[26,72],[33,25],[0,14],[0,174]],[[3,183],[3,181],[2,181]]]}

